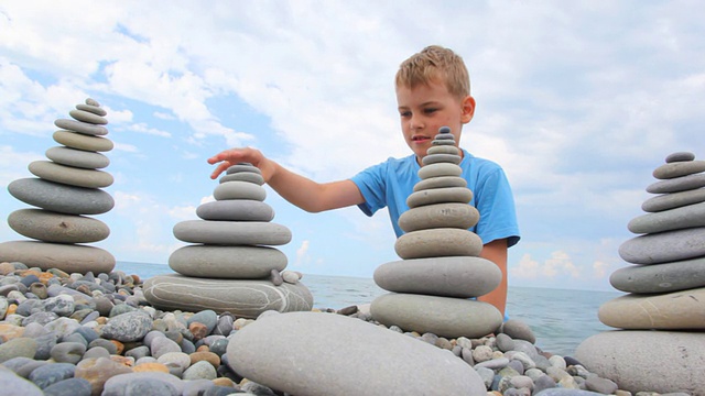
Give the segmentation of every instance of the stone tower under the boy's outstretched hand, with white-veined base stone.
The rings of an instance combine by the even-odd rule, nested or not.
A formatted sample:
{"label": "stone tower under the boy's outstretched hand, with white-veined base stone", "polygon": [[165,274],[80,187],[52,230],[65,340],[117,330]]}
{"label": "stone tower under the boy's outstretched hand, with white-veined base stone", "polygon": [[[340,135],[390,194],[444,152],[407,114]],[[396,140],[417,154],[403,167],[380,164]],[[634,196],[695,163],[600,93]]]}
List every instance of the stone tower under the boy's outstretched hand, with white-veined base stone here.
{"label": "stone tower under the boy's outstretched hand, with white-veined base stone", "polygon": [[[230,312],[257,318],[265,310],[311,310],[313,296],[301,274],[283,271],[286,255],[272,248],[291,241],[291,231],[272,223],[274,210],[264,202],[260,169],[230,166],[214,190],[215,201],[200,205],[200,220],[174,226],[174,237],[192,243],[171,254],[178,274],[144,283],[144,296],[165,309]],[[282,272],[283,271],[283,272]]]}

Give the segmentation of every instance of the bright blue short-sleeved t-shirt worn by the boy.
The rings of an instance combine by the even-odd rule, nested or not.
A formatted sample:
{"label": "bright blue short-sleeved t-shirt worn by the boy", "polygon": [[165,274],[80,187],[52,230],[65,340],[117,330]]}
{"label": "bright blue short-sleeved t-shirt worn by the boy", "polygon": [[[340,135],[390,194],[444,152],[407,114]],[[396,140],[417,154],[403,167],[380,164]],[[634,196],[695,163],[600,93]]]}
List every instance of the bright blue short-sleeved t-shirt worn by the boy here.
{"label": "bright blue short-sleeved t-shirt worn by the boy", "polygon": [[[462,177],[473,190],[473,205],[480,213],[478,223],[469,230],[482,243],[507,238],[507,246],[519,242],[519,227],[514,210],[514,198],[507,176],[496,163],[473,156],[463,150]],[[406,198],[413,187],[421,182],[417,173],[421,166],[414,154],[403,158],[389,158],[355,175],[351,180],[365,197],[358,207],[367,216],[389,207],[389,216],[397,238],[404,232],[399,228],[399,217],[409,210]]]}

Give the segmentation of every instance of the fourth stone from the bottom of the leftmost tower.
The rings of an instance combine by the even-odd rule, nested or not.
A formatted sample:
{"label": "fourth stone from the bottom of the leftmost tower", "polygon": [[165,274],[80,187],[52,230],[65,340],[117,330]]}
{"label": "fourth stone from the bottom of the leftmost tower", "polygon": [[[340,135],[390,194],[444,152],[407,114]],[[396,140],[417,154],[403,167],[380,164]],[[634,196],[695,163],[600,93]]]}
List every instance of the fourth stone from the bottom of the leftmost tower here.
{"label": "fourth stone from the bottom of the leftmost tower", "polygon": [[113,182],[112,176],[107,172],[83,169],[51,161],[34,161],[29,168],[34,176],[44,180],[76,187],[101,188],[112,185]]}

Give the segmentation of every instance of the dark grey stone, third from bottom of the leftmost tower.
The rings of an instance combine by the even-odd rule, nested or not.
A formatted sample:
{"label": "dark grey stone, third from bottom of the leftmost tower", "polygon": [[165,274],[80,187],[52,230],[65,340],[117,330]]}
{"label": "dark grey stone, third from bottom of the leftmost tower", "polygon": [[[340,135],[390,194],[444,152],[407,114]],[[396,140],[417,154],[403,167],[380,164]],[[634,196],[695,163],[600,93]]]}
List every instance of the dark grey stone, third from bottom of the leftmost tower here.
{"label": "dark grey stone, third from bottom of the leftmost tower", "polygon": [[24,204],[59,213],[100,215],[115,206],[100,189],[67,186],[41,178],[21,178],[8,185],[10,194]]}

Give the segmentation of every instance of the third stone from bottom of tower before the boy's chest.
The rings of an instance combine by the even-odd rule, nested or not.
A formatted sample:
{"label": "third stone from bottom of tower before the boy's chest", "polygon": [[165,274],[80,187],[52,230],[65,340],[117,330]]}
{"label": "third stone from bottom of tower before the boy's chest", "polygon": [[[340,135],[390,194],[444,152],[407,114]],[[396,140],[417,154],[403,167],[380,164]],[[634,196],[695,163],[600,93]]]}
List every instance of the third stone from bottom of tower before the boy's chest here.
{"label": "third stone from bottom of tower before the boy's chest", "polygon": [[468,230],[438,228],[405,233],[397,239],[394,251],[404,260],[442,256],[479,256],[480,238]]}

